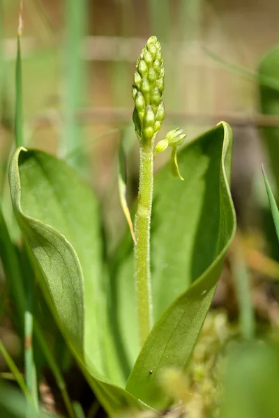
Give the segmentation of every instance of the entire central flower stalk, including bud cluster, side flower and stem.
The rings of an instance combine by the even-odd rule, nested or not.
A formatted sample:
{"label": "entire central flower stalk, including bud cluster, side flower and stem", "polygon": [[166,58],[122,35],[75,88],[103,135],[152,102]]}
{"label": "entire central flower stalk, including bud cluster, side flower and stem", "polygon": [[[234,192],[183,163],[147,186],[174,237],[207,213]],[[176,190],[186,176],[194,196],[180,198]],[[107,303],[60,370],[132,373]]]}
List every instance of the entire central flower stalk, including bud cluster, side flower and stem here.
{"label": "entire central flower stalk, including bud cluster, side flower and stem", "polygon": [[[172,147],[171,167],[174,176],[181,177],[177,165],[176,148],[184,138],[182,130],[176,129],[167,134],[154,150],[155,139],[165,119],[163,103],[165,68],[160,42],[156,36],[151,36],[137,59],[132,86],[132,97],[135,102],[133,122],[135,132],[140,142],[140,181],[135,214],[135,293],[137,300],[137,319],[140,331],[140,343],[144,346],[153,326],[151,270],[150,270],[150,226],[153,199],[153,160],[168,146]],[[125,200],[125,183],[120,178],[121,201],[123,210],[130,226]],[[131,232],[133,234],[133,229]]]}

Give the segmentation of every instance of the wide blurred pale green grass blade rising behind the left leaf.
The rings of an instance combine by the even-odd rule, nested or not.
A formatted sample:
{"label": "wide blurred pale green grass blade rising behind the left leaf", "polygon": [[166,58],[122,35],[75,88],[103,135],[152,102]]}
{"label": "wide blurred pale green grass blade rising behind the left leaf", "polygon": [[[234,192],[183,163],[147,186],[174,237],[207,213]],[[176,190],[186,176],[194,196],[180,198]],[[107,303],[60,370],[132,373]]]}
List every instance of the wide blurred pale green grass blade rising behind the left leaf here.
{"label": "wide blurred pale green grass blade rising behind the left leaf", "polygon": [[[65,86],[63,94],[64,135],[60,144],[60,154],[66,155],[80,146],[82,148],[82,128],[75,114],[80,110],[84,96],[85,65],[81,59],[81,45],[86,26],[86,0],[65,2],[66,57]],[[84,164],[84,154],[76,155],[71,164],[80,169]]]}

